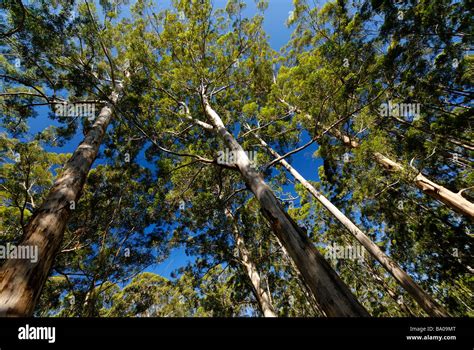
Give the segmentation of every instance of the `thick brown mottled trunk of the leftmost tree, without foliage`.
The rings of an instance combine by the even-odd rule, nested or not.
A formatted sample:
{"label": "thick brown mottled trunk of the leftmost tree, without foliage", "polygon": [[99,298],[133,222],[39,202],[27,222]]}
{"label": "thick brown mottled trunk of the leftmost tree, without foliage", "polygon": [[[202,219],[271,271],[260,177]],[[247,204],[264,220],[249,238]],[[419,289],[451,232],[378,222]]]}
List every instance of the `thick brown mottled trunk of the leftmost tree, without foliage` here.
{"label": "thick brown mottled trunk of the leftmost tree, without foliage", "polygon": [[71,210],[77,205],[92,163],[97,157],[113,104],[123,89],[118,84],[84,140],[74,151],[41,207],[26,227],[21,246],[37,247],[36,263],[9,259],[0,268],[0,316],[31,316],[58,254]]}

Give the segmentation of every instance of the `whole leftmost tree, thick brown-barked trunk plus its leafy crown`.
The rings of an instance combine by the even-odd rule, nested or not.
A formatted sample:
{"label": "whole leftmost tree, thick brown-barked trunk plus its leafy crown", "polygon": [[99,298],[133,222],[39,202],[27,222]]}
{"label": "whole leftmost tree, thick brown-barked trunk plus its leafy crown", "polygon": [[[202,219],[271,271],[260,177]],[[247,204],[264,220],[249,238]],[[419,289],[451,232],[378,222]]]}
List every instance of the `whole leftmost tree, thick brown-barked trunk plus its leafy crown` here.
{"label": "whole leftmost tree, thick brown-barked trunk plus its leafy crown", "polygon": [[[86,2],[79,7],[78,10],[79,15],[83,16],[84,20],[73,18],[73,23],[71,24],[69,23],[70,17],[66,17],[71,14],[71,6],[64,7],[59,15],[54,15],[53,11],[43,11],[42,9],[32,7],[29,11],[34,11],[37,16],[41,17],[39,23],[37,18],[27,16],[24,22],[24,28],[16,34],[18,40],[9,39],[11,51],[18,52],[19,48],[25,50],[24,52],[26,53],[24,56],[26,57],[22,58],[28,62],[28,68],[36,67],[41,71],[43,66],[47,67],[42,70],[41,75],[41,83],[44,84],[44,88],[52,89],[54,92],[56,92],[58,88],[47,73],[47,71],[51,70],[51,67],[57,68],[59,74],[55,73],[56,76],[64,78],[68,75],[73,75],[77,70],[76,64],[78,64],[81,67],[80,69],[83,69],[80,74],[81,78],[90,81],[90,75],[92,75],[95,81],[89,84],[89,87],[91,85],[95,86],[96,94],[108,102],[101,108],[90,130],[86,130],[84,140],[66,163],[48,196],[46,196],[38,209],[35,210],[25,229],[25,235],[20,245],[37,247],[39,251],[38,261],[31,263],[28,260],[8,260],[1,267],[0,313],[2,315],[22,316],[31,315],[33,313],[51,265],[58,253],[70,212],[75,208],[79,200],[89,170],[97,157],[107,126],[112,119],[113,106],[119,101],[122,94],[125,82],[116,81],[116,77],[122,76],[124,80],[129,78],[128,71],[121,71],[119,73],[117,63],[114,62],[111,57],[111,37],[117,36],[118,32],[114,33],[116,29],[111,27],[108,29],[108,32],[105,32],[109,36],[107,42],[105,42],[103,38],[104,32],[100,33],[97,18],[94,17],[91,6]],[[53,21],[55,17],[59,21],[59,24],[57,27],[51,28],[50,22]],[[44,37],[54,35],[64,28],[66,28],[71,37],[65,39],[64,35],[61,35],[60,38],[64,41],[55,40],[56,45],[52,45],[52,47],[48,48],[44,42]],[[43,30],[45,32],[43,32]],[[28,35],[22,35],[23,33],[28,33]],[[29,35],[31,35],[32,38],[30,38]],[[72,40],[73,35],[77,35],[76,42]],[[91,35],[98,35],[99,40],[95,41]],[[36,38],[41,39],[36,40]],[[56,57],[51,51],[52,49],[59,49],[60,52],[64,54],[60,57]],[[32,53],[27,50],[31,50]],[[42,50],[44,50],[44,52]],[[101,52],[102,55],[96,56],[96,52]],[[119,55],[119,52],[117,52],[117,54]],[[68,62],[65,64],[64,60],[67,59],[66,55],[72,57],[72,59],[70,59],[70,61],[72,61],[71,63]],[[42,63],[40,58],[43,58],[47,64]],[[90,72],[90,64],[92,64],[92,62],[98,65],[107,64],[109,68],[108,73],[112,82],[109,92],[104,93],[102,91],[108,84],[103,87],[97,86],[97,83],[101,82],[96,75]],[[3,75],[3,78],[26,86],[30,85],[28,81],[24,82],[23,75],[27,75],[27,73],[15,72],[16,74],[10,74],[9,69],[10,68],[7,67],[7,74]],[[87,69],[89,69],[89,71]],[[35,83],[32,82],[31,84]],[[80,80],[60,85],[69,87],[71,91],[74,92],[74,89],[80,89],[81,84],[83,87],[84,85],[86,85],[86,87],[88,86]],[[32,87],[36,91],[35,95],[37,98],[45,99],[48,104],[52,103],[56,105],[58,103],[55,95],[49,98],[42,92],[43,87],[37,88],[34,85],[32,85]],[[79,92],[80,95],[84,95],[85,93],[86,91]],[[21,94],[20,92],[20,95]],[[7,93],[7,95],[9,95],[9,93]],[[16,96],[16,93],[13,93],[13,95]],[[68,96],[70,101],[72,101],[73,97],[74,93]]]}

